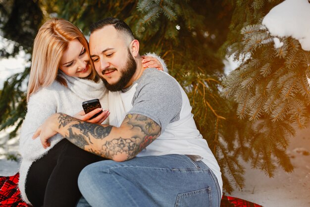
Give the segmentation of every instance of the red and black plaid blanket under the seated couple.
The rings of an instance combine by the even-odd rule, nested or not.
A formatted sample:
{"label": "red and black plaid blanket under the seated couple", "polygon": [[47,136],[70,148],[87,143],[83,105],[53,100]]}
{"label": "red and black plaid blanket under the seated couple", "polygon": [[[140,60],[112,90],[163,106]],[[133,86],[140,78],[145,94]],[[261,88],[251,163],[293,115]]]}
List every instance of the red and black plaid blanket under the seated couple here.
{"label": "red and black plaid blanket under the seated couple", "polygon": [[[21,200],[17,187],[19,173],[9,177],[0,177],[0,207],[31,207]],[[262,207],[242,199],[223,196],[220,207]]]}

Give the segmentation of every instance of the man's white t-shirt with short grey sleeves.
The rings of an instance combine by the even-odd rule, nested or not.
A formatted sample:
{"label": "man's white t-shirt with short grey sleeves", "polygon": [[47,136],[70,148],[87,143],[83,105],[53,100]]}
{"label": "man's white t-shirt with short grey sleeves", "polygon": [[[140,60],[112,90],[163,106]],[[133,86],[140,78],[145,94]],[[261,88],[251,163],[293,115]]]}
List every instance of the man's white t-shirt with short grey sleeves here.
{"label": "man's white t-shirt with short grey sleeves", "polygon": [[[117,101],[119,96],[121,101]],[[202,161],[215,174],[222,192],[218,163],[206,139],[196,127],[185,91],[172,76],[157,69],[146,69],[131,87],[121,92],[109,92],[109,109],[110,125],[120,126],[127,114],[140,114],[161,127],[160,136],[142,150],[138,157],[165,154],[200,155],[203,157]]]}

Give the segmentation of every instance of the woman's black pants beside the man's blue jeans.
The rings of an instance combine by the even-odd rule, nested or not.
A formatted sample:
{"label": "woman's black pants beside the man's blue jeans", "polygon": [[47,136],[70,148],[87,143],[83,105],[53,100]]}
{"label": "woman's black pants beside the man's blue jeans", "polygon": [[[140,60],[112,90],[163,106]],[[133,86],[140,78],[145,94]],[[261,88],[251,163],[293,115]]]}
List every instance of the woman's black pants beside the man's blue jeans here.
{"label": "woman's black pants beside the man's blue jeans", "polygon": [[32,163],[26,179],[26,195],[34,207],[75,207],[81,197],[77,180],[88,164],[103,160],[72,144],[59,141]]}

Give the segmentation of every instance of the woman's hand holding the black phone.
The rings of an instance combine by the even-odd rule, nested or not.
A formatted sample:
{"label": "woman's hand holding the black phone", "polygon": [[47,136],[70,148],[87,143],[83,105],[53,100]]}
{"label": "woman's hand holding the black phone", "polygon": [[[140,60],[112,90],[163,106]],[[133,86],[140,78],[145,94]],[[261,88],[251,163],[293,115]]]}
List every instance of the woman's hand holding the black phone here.
{"label": "woman's hand holding the black phone", "polygon": [[[101,114],[99,114],[97,117],[93,119],[90,119],[97,113],[101,113]],[[94,109],[93,111],[87,114],[85,114],[85,112],[82,110],[79,113],[75,114],[73,117],[79,120],[82,120],[82,121],[101,124],[109,115],[110,115],[110,112],[108,110],[103,111],[102,108],[99,108],[99,109]]]}

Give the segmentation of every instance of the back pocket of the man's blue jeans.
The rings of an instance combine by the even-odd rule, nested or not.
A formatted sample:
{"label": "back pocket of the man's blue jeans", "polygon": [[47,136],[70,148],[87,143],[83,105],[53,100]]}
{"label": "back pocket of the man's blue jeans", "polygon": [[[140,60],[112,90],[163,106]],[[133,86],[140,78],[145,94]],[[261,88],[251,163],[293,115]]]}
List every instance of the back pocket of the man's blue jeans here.
{"label": "back pocket of the man's blue jeans", "polygon": [[179,194],[174,207],[211,207],[210,194],[210,187]]}

